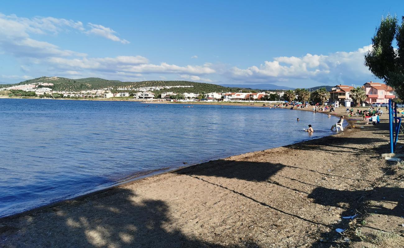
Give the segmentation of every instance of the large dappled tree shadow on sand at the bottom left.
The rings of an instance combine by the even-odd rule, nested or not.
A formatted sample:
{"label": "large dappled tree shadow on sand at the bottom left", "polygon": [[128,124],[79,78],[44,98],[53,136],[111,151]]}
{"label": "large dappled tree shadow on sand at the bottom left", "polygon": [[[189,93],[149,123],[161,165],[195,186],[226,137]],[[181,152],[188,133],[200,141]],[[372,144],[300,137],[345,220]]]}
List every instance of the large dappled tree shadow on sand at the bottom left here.
{"label": "large dappled tree shadow on sand at the bottom left", "polygon": [[[19,225],[0,223],[1,247],[155,248],[259,247],[245,241],[222,246],[173,229],[175,219],[162,200],[140,200],[127,189],[115,188],[44,208],[19,219]],[[12,221],[12,219],[10,220]],[[14,222],[15,223],[15,222]]]}

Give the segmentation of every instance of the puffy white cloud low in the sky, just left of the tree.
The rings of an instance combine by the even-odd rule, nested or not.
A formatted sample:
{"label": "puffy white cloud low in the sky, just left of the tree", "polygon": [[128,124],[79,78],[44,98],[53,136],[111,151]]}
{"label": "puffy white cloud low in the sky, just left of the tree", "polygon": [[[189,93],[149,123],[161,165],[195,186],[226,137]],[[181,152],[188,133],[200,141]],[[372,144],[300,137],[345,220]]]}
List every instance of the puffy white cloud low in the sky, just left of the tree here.
{"label": "puffy white cloud low in the sky, just left of the tree", "polygon": [[287,81],[288,79],[312,79],[324,83],[343,83],[370,77],[364,66],[364,53],[371,46],[354,52],[335,52],[328,55],[306,54],[302,57],[276,57],[259,66],[247,69],[233,67],[230,76],[236,80]]}

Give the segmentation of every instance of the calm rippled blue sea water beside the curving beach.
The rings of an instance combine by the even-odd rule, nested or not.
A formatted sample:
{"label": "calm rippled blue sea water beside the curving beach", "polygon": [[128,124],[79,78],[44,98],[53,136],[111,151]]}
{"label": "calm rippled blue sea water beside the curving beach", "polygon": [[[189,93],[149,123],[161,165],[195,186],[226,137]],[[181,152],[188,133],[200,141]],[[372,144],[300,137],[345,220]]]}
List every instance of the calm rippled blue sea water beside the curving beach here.
{"label": "calm rippled blue sea water beside the curving beach", "polygon": [[336,121],[260,107],[0,99],[0,217],[183,162],[330,135]]}

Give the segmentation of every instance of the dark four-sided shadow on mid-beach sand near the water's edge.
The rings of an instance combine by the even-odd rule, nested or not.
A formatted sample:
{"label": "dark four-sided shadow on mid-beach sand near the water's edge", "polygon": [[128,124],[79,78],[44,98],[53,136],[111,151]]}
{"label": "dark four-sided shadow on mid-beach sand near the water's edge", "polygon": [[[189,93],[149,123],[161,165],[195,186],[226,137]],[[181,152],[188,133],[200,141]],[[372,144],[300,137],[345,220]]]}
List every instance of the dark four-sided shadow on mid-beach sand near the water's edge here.
{"label": "dark four-sided shadow on mid-beach sand near the water's edge", "polygon": [[234,161],[234,160],[214,160],[208,163],[184,168],[175,173],[181,175],[204,175],[214,177],[226,177],[242,179],[245,181],[266,181],[280,171],[285,166],[282,164]]}

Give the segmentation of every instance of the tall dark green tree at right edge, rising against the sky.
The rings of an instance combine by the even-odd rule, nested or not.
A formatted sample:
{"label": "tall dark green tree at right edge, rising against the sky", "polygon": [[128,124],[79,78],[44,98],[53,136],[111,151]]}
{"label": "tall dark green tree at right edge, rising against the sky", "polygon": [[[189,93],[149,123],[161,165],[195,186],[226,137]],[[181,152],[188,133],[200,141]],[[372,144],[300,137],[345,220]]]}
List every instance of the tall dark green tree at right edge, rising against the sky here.
{"label": "tall dark green tree at right edge, rising against the sky", "polygon": [[[394,39],[397,50],[393,48]],[[382,17],[372,38],[372,49],[365,54],[365,65],[404,98],[404,17],[401,24],[395,16]]]}

